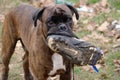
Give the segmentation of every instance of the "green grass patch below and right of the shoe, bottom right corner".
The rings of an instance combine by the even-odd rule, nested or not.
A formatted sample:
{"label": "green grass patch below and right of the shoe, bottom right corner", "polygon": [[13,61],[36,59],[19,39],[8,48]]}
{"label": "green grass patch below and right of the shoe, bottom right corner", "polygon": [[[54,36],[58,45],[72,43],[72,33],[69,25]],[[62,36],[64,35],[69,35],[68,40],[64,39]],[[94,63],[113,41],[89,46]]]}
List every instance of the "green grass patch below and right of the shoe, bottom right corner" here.
{"label": "green grass patch below and right of the shoe, bottom right corner", "polygon": [[120,59],[120,50],[114,53],[108,53],[105,61],[105,67],[100,68],[100,72],[89,72],[82,70],[81,67],[75,67],[75,74],[79,80],[120,80],[120,72],[115,72],[114,59]]}

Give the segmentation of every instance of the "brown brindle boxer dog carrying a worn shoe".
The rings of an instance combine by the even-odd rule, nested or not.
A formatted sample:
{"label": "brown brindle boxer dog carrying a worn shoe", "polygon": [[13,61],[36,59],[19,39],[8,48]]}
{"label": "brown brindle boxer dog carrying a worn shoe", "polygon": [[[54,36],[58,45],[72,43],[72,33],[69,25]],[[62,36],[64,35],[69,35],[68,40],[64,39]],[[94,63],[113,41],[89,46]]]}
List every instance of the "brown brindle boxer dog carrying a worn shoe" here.
{"label": "brown brindle boxer dog carrying a worn shoe", "polygon": [[[25,80],[47,80],[53,68],[53,52],[46,44],[47,35],[57,34],[76,37],[72,16],[79,15],[70,5],[53,5],[36,9],[22,5],[6,15],[2,31],[2,80],[7,80],[10,58],[16,43],[21,41],[26,52],[23,63]],[[72,65],[64,59],[66,72],[61,80],[71,80]],[[32,76],[31,76],[32,74]]]}

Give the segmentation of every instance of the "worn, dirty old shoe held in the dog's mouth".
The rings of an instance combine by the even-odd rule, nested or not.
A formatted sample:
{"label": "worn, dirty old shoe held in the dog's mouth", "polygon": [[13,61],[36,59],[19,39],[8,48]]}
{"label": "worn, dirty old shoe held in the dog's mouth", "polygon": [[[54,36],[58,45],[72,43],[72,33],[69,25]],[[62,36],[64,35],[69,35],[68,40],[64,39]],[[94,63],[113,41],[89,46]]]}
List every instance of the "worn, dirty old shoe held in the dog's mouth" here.
{"label": "worn, dirty old shoe held in the dog's mouth", "polygon": [[99,48],[76,37],[49,35],[47,42],[51,50],[77,65],[95,65],[102,56]]}

